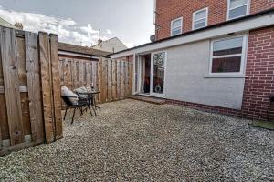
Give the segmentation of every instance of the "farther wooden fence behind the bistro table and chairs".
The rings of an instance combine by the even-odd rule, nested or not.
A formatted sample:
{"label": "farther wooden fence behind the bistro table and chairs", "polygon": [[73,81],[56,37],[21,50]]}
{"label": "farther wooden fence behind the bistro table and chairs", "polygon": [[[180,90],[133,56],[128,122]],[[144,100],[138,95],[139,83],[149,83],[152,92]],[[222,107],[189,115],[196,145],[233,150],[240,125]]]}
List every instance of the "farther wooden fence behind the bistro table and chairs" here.
{"label": "farther wooden fence behind the bistro table and chairs", "polygon": [[132,60],[98,61],[59,57],[61,85],[70,89],[93,86],[100,91],[100,103],[132,96]]}

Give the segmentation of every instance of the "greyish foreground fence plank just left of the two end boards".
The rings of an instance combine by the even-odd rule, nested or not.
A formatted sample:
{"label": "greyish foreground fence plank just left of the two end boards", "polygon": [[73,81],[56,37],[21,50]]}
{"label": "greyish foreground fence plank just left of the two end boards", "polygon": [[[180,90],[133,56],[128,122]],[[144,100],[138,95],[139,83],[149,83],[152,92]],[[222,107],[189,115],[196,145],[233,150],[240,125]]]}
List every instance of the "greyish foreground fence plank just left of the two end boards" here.
{"label": "greyish foreground fence plank just left of the two end boards", "polygon": [[26,77],[32,140],[44,138],[37,34],[26,32]]}

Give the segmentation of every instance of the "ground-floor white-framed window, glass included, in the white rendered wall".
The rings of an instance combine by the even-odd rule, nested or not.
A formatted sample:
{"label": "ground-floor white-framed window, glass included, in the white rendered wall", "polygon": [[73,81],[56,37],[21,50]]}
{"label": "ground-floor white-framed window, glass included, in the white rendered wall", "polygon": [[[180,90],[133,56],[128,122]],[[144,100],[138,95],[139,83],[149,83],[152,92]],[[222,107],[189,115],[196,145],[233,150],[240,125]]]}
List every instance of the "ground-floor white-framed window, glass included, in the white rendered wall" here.
{"label": "ground-floor white-framed window, glass included, in the white rendered wall", "polygon": [[246,36],[212,42],[210,74],[243,74]]}

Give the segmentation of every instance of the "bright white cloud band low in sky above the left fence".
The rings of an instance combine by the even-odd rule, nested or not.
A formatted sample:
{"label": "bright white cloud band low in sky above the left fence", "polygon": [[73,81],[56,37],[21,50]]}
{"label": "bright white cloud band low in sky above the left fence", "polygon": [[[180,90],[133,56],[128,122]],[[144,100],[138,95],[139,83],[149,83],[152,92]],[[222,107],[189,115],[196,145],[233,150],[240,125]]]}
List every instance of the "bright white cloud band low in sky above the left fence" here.
{"label": "bright white cloud band low in sky above the left fence", "polygon": [[[11,24],[20,22],[24,25],[24,30],[30,32],[45,31],[47,33],[58,34],[60,42],[66,42],[75,45],[95,45],[99,39],[99,31],[95,30],[92,25],[79,26],[73,19],[62,19],[42,14],[16,12],[5,10],[0,6],[0,16]],[[110,29],[102,31],[104,34],[100,37],[107,40],[111,37]]]}

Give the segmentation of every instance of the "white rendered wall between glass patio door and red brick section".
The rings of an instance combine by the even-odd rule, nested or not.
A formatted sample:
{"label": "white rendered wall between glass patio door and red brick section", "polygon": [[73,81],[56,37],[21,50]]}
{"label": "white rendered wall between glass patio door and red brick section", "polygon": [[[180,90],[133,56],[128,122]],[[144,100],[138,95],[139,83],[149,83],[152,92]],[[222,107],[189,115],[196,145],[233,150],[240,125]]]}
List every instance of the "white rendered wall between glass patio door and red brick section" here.
{"label": "white rendered wall between glass patio door and red brick section", "polygon": [[180,45],[167,52],[165,97],[207,106],[241,109],[244,78],[209,78],[210,41]]}

